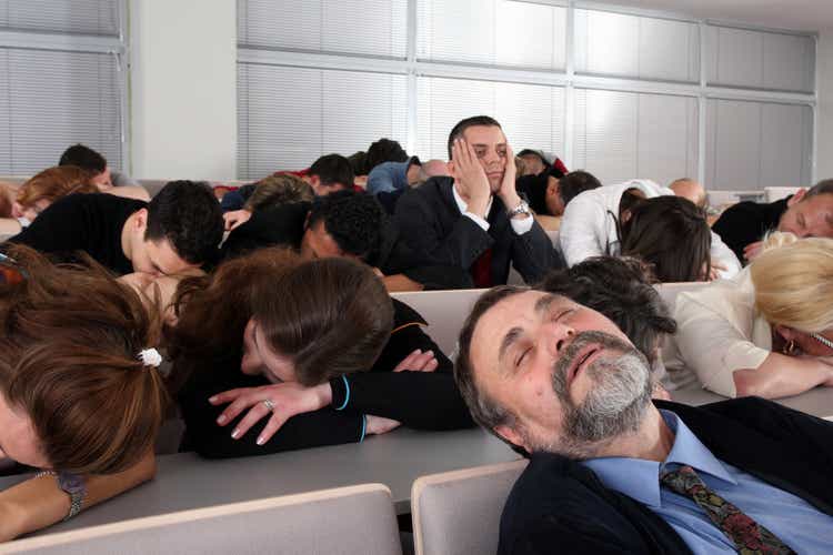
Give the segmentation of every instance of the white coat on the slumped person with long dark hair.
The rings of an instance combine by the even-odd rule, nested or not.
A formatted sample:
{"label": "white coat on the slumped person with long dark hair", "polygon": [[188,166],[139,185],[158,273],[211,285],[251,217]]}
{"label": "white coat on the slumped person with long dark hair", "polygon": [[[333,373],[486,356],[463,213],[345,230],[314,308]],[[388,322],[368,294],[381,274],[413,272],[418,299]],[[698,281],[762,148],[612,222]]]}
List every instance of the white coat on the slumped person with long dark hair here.
{"label": "white coat on the slumped person with long dark hair", "polygon": [[[645,198],[673,195],[674,192],[651,180],[636,179],[615,185],[584,191],[570,201],[561,218],[559,241],[569,266],[591,256],[619,254],[616,220],[619,202],[629,189],[639,189]],[[732,278],[741,271],[741,263],[732,250],[712,232],[712,261],[726,268],[721,278]]]}

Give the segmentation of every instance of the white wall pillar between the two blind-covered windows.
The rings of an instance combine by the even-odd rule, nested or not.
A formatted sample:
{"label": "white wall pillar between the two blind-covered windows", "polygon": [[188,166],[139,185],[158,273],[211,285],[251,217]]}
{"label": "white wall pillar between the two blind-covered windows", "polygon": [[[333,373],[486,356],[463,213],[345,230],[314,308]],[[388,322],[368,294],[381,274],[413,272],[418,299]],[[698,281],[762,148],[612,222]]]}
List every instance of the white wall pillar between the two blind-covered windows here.
{"label": "white wall pillar between the two blind-covered windows", "polygon": [[130,174],[237,175],[233,0],[129,0]]}

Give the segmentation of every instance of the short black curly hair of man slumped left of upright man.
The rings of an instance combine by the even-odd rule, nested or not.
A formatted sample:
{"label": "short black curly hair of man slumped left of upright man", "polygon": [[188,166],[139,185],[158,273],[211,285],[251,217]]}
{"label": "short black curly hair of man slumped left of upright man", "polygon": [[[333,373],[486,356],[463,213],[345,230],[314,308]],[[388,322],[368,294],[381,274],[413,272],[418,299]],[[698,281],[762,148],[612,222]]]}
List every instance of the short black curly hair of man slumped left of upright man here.
{"label": "short black curly hair of man slumped left of upright man", "polygon": [[369,260],[380,246],[385,213],[371,194],[337,191],[312,203],[309,226],[319,221],[342,251]]}

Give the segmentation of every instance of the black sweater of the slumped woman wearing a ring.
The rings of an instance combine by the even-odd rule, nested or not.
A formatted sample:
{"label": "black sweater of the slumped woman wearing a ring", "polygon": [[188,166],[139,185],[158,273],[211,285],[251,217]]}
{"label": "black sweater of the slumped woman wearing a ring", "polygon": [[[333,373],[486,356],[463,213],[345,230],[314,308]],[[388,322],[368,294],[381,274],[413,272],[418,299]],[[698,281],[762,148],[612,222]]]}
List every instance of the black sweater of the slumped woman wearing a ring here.
{"label": "black sweater of the slumped woman wearing a ring", "polygon": [[[211,395],[237,387],[269,385],[262,376],[248,376],[240,372],[242,347],[225,356],[207,361],[199,374],[192,375],[178,395],[185,421],[182,451],[197,451],[200,455],[221,458],[278,453],[322,445],[360,441],[364,415],[384,416],[403,425],[423,430],[454,430],[473,426],[469,410],[461,397],[452,364],[440,347],[422,331],[425,321],[410,306],[393,300],[394,325],[382,354],[369,372],[347,376],[350,398],[341,377],[330,381],[332,405],[320,411],[299,414],[290,418],[265,445],[254,438],[265,426],[267,418],[255,424],[240,440],[231,438],[234,423],[219,426],[215,421],[225,406],[213,406]],[[391,372],[414,350],[432,350],[439,367],[426,372]]]}

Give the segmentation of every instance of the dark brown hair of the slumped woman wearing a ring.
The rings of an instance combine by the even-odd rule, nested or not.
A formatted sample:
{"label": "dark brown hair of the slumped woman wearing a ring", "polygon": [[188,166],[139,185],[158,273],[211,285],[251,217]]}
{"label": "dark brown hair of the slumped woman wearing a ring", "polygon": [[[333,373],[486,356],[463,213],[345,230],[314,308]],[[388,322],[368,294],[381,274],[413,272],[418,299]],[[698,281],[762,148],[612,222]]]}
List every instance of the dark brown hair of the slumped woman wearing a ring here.
{"label": "dark brown hair of the slumped woman wearing a ring", "polygon": [[274,349],[292,359],[304,385],[369,370],[393,326],[390,296],[370,268],[343,258],[302,262],[278,248],[183,280],[174,306],[174,390],[205,360],[238,352],[251,317]]}

